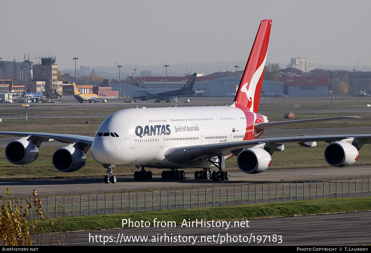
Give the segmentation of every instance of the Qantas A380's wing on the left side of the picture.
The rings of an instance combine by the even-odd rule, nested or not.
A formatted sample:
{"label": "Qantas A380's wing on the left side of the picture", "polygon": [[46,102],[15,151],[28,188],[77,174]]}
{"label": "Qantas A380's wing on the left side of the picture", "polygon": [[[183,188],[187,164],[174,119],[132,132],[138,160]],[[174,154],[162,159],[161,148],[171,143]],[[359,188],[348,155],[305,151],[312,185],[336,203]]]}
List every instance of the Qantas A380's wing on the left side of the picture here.
{"label": "Qantas A380's wing on the left side of the picture", "polygon": [[94,137],[82,136],[75,134],[58,134],[58,133],[28,133],[28,132],[0,132],[2,135],[30,136],[29,139],[35,142],[50,142],[57,140],[63,143],[84,143],[91,146]]}

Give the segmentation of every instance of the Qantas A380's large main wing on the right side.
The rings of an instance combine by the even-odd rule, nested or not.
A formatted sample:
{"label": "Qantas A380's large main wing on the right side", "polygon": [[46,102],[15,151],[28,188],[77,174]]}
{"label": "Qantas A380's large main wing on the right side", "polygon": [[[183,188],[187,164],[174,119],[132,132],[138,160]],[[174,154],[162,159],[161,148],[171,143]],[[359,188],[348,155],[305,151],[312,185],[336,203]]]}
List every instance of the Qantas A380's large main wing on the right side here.
{"label": "Qantas A380's large main wing on the right side", "polygon": [[371,134],[278,137],[271,139],[172,147],[165,152],[164,156],[169,162],[192,166],[193,164],[198,164],[218,155],[227,156],[234,154],[235,156],[238,156],[242,150],[255,145],[260,145],[260,148],[263,147],[268,153],[272,154],[274,151],[279,151],[277,148],[285,143],[298,143],[304,147],[312,147],[316,146],[316,143],[314,142],[321,141],[332,143],[344,139],[347,139],[347,141],[351,142],[355,147],[360,148],[365,143],[371,143]]}

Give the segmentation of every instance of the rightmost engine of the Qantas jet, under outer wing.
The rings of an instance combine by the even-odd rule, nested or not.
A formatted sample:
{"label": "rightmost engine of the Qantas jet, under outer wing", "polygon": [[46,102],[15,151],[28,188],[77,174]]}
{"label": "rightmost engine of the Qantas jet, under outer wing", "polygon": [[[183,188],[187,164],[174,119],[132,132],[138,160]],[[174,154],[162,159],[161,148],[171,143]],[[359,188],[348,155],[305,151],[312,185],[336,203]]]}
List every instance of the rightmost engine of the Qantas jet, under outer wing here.
{"label": "rightmost engine of the Qantas jet, under outer wing", "polygon": [[347,167],[358,160],[358,150],[347,142],[332,142],[325,149],[325,161],[334,167]]}

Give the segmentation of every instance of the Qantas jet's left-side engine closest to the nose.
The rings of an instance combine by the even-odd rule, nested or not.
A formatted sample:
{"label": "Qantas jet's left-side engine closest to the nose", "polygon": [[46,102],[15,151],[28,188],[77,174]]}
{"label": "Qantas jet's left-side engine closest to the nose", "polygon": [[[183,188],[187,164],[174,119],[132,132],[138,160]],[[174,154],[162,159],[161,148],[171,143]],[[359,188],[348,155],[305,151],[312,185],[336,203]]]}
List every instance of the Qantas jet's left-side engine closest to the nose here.
{"label": "Qantas jet's left-side engine closest to the nose", "polygon": [[81,169],[86,163],[86,155],[75,147],[61,147],[54,152],[53,166],[61,172],[74,172]]}

